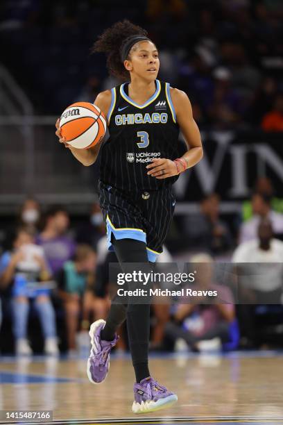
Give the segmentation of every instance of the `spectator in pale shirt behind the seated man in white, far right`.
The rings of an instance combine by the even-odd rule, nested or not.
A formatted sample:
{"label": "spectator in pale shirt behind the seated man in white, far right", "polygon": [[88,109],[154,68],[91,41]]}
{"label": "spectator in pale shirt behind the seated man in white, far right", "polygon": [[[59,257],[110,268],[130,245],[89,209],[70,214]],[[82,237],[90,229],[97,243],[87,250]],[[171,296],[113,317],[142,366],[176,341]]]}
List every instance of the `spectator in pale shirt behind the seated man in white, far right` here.
{"label": "spectator in pale shirt behind the seated man in white, far right", "polygon": [[273,232],[282,235],[283,233],[283,214],[275,213],[271,209],[271,197],[261,193],[252,195],[252,213],[253,216],[240,227],[240,243],[257,238],[257,228],[261,219],[269,219],[273,226]]}

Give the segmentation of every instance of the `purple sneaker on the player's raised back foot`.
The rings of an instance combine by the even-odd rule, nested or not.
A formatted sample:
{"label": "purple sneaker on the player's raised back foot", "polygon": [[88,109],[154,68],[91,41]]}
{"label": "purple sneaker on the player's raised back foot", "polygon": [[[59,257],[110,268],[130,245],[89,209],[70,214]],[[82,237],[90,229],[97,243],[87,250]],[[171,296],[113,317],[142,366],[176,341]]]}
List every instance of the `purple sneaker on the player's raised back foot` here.
{"label": "purple sneaker on the player's raised back foot", "polygon": [[116,334],[112,341],[101,340],[100,334],[105,323],[103,319],[96,320],[89,329],[92,349],[87,360],[87,376],[89,381],[94,384],[101,383],[106,378],[110,367],[110,350],[119,340],[119,336]]}

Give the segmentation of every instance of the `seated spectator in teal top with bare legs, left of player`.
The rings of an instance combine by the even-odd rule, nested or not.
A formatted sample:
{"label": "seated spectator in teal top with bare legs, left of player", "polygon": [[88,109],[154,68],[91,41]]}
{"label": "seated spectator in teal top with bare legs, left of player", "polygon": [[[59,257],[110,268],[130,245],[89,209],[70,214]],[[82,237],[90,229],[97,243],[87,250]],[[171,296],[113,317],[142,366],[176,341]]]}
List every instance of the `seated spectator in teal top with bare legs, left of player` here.
{"label": "seated spectator in teal top with bare legs, left of player", "polygon": [[96,253],[89,245],[78,245],[74,261],[66,261],[58,273],[58,288],[64,303],[69,351],[76,349],[76,331],[82,312],[82,329],[93,321],[106,317],[107,301],[94,296]]}

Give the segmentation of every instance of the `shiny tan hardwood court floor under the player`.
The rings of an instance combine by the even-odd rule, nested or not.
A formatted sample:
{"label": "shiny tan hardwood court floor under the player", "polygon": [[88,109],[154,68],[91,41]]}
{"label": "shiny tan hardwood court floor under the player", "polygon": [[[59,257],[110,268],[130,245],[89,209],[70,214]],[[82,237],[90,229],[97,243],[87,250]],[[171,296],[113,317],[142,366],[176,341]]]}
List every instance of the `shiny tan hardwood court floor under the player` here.
{"label": "shiny tan hardwood court floor under the player", "polygon": [[101,385],[89,383],[85,367],[85,359],[0,358],[0,410],[53,410],[57,424],[95,424],[99,419],[105,424],[121,423],[115,419],[132,424],[283,424],[282,354],[153,357],[152,375],[178,394],[178,402],[142,416],[131,411],[134,374],[128,356],[112,356]]}

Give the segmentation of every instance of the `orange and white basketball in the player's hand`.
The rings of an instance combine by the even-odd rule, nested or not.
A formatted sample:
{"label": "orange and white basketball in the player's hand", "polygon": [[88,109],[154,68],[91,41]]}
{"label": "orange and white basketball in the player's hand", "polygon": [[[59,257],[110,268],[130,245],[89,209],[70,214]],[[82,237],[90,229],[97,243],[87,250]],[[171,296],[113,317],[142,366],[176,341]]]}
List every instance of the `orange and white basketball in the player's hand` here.
{"label": "orange and white basketball in the player's hand", "polygon": [[59,125],[62,137],[76,149],[93,147],[106,131],[103,113],[89,102],[76,102],[68,106],[60,117]]}

